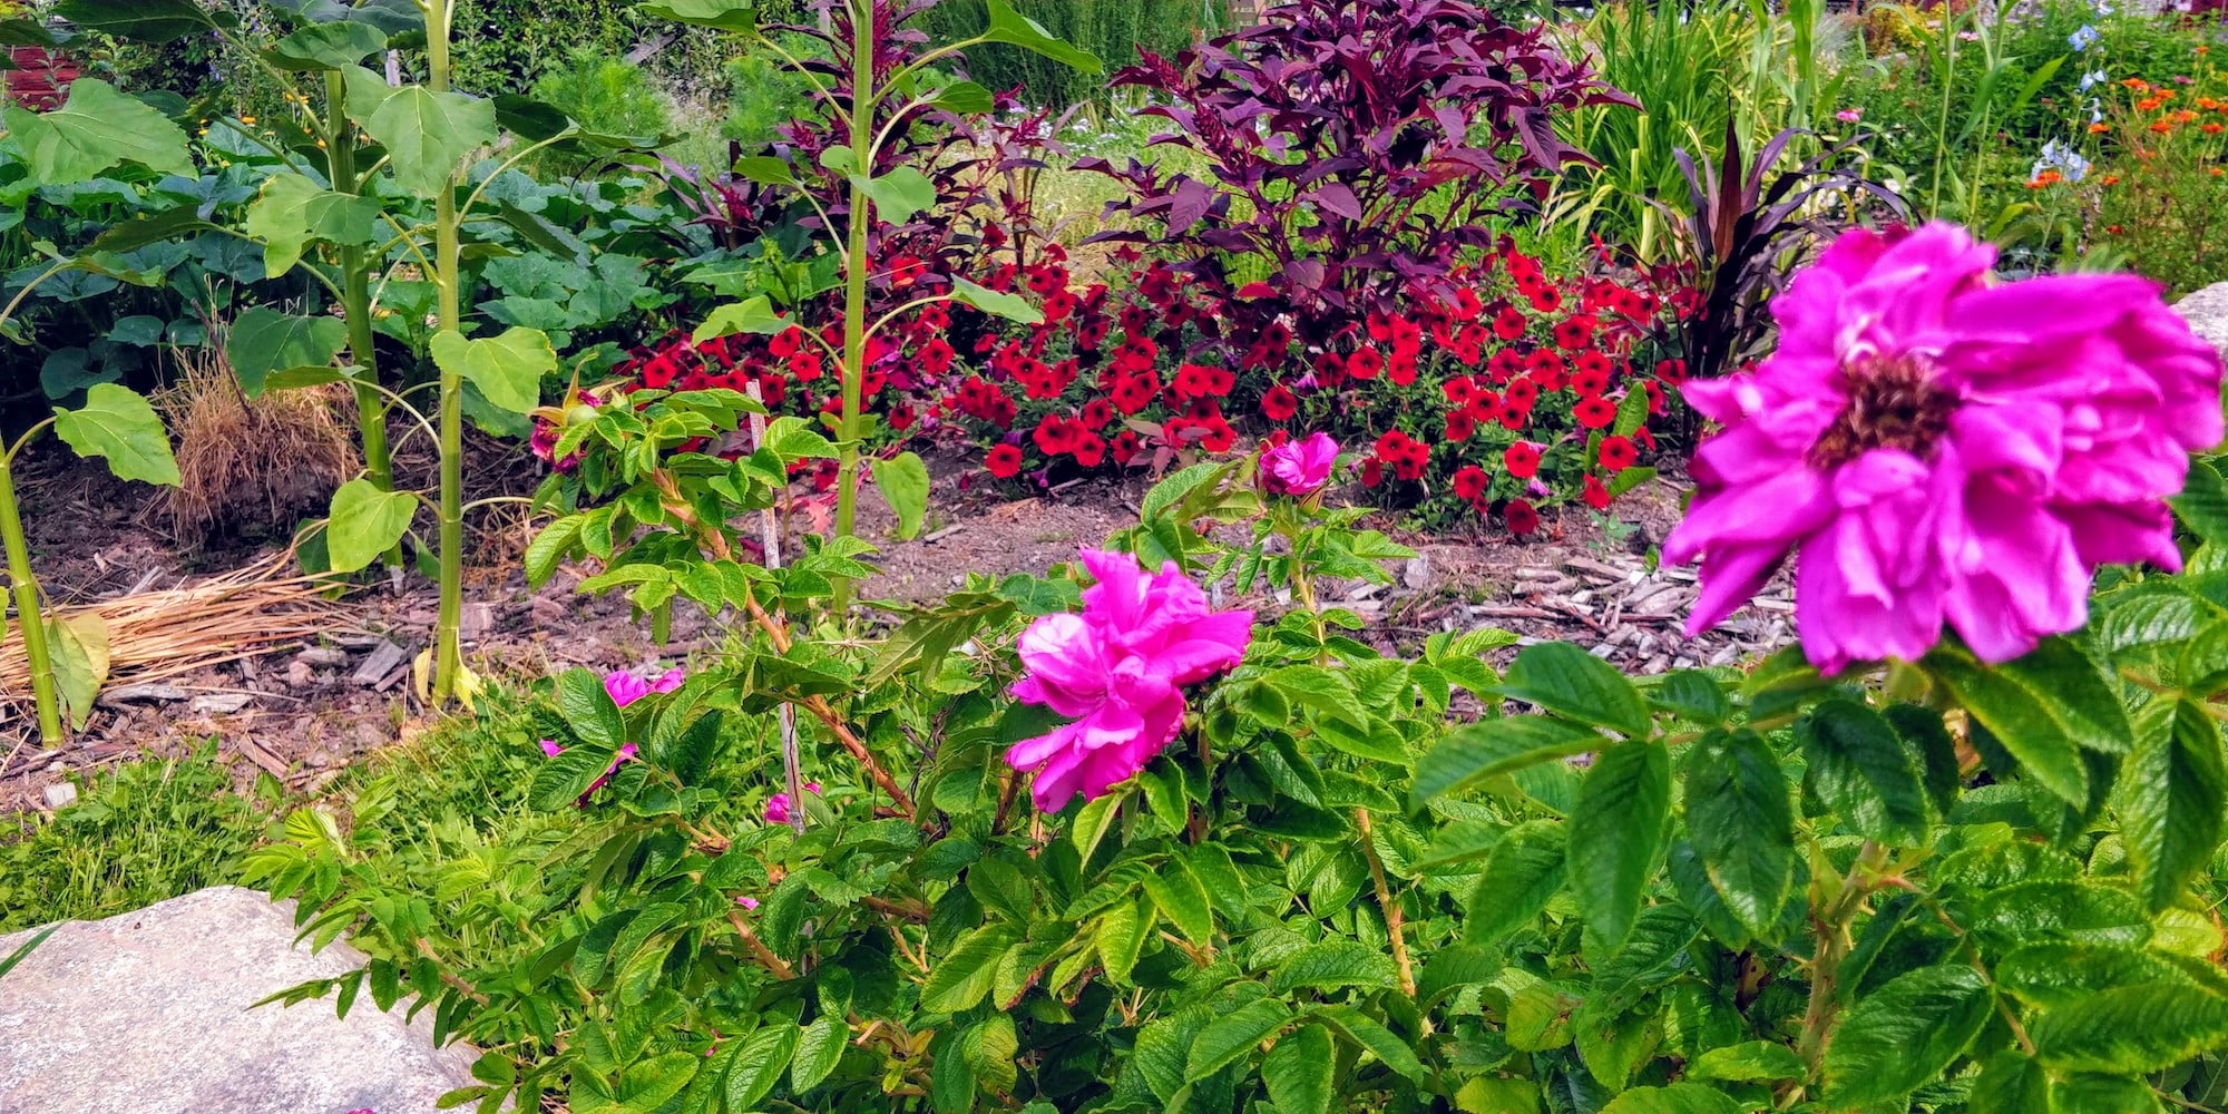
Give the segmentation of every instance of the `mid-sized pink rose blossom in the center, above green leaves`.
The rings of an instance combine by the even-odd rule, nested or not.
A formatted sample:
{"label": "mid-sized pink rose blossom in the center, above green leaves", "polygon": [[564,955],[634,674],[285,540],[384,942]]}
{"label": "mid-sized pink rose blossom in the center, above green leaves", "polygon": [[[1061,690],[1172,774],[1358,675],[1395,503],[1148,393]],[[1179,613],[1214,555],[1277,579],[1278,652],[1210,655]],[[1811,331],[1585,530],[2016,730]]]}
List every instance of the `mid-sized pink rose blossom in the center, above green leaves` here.
{"label": "mid-sized pink rose blossom in the center, above green leaves", "polygon": [[1208,610],[1174,561],[1159,575],[1125,553],[1083,550],[1096,586],[1081,615],[1045,615],[1020,635],[1027,677],[1014,697],[1074,722],[1016,742],[1005,760],[1036,771],[1032,795],[1052,813],[1132,778],[1183,726],[1183,686],[1245,657],[1250,610]]}

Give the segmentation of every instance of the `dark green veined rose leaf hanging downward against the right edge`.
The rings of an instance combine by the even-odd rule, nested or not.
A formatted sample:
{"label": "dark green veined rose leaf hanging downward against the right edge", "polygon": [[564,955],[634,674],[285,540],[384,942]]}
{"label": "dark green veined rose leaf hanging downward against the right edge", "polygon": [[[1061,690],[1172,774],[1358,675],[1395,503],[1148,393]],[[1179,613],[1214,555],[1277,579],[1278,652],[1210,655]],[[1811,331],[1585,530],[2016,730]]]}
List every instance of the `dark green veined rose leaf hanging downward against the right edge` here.
{"label": "dark green veined rose leaf hanging downward against the right edge", "polygon": [[2119,775],[2119,838],[2152,911],[2181,898],[2221,842],[2228,760],[2203,706],[2154,702]]}

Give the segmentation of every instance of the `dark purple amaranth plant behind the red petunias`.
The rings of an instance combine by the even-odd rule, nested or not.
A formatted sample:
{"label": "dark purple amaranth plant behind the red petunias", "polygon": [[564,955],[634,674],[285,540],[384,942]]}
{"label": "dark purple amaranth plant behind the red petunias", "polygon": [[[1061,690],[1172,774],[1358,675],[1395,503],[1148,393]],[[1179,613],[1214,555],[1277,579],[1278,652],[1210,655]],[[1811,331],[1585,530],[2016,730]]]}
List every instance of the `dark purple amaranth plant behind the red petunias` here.
{"label": "dark purple amaranth plant behind the red petunias", "polygon": [[1466,250],[1491,245],[1488,214],[1586,163],[1555,136],[1557,111],[1631,105],[1537,27],[1470,0],[1288,0],[1174,60],[1145,53],[1114,85],[1147,89],[1143,111],[1176,125],[1154,143],[1199,152],[1208,174],[1081,163],[1130,187],[1110,216],[1161,225],[1101,238],[1183,256],[1179,270],[1234,299],[1237,348],[1286,312],[1321,343],[1439,292]]}

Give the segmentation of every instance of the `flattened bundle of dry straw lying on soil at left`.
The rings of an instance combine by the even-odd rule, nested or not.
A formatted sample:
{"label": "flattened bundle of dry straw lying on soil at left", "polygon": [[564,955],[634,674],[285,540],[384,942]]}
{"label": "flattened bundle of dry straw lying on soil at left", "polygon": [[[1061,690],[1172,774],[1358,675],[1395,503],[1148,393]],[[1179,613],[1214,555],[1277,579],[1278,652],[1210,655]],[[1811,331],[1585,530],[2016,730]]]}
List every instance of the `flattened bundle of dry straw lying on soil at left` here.
{"label": "flattened bundle of dry straw lying on soil at left", "polygon": [[[196,584],[56,608],[56,617],[98,615],[107,624],[109,680],[102,688],[149,684],[345,628],[345,610],[325,595],[332,582],[292,568],[294,553],[274,553]],[[29,695],[31,664],[22,639],[9,631],[0,642],[0,700]]]}

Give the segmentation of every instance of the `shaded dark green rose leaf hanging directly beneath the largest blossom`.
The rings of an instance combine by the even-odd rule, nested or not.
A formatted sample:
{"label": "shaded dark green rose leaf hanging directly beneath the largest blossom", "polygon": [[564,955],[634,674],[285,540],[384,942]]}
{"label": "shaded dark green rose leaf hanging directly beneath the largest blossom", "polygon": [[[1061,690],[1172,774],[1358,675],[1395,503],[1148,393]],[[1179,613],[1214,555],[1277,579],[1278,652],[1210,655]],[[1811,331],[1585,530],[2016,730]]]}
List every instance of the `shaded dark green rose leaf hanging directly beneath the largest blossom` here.
{"label": "shaded dark green rose leaf hanging directly beneath the largest blossom", "polygon": [[1827,700],[1796,722],[1809,784],[1843,824],[1889,847],[1927,840],[1927,789],[1918,755],[1887,720],[1854,700]]}

